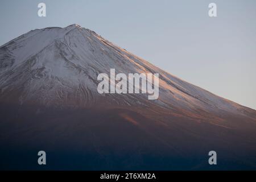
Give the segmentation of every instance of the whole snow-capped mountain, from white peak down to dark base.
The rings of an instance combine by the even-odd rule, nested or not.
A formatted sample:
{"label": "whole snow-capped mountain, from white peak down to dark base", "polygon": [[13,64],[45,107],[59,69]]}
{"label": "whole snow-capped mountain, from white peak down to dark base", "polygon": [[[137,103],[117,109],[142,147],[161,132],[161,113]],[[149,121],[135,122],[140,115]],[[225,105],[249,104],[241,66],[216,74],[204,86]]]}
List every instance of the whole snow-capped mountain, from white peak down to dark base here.
{"label": "whole snow-capped mountain, from white peak down to dark base", "polygon": [[[99,94],[97,76],[113,68],[159,73],[158,99]],[[3,169],[40,169],[39,150],[49,153],[48,169],[256,169],[255,110],[77,24],[1,46],[0,93]],[[212,150],[217,166],[208,164]]]}

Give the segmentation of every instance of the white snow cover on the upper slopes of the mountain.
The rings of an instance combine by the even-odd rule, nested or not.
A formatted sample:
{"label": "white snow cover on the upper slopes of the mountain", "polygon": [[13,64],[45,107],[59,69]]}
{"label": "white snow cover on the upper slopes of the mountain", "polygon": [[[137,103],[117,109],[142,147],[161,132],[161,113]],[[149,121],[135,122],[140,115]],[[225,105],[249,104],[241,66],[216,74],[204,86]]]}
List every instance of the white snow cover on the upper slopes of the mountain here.
{"label": "white snow cover on the upper slopes of the mountain", "polygon": [[[159,99],[149,104],[189,111],[251,112],[162,71],[77,24],[32,30],[1,46],[0,53],[2,99],[15,90],[20,104],[36,100],[43,105],[92,105],[101,98],[97,75],[109,74],[110,68],[115,68],[117,73],[159,73]],[[77,102],[69,101],[69,97]],[[134,97],[146,105],[149,102],[142,94],[121,97],[118,104],[137,105]]]}

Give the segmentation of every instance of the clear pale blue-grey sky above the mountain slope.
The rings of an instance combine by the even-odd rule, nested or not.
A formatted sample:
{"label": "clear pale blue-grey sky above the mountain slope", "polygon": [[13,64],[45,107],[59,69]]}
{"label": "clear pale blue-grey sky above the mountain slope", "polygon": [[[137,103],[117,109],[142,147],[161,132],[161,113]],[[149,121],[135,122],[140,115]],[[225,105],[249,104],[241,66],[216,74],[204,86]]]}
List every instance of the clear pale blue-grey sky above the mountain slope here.
{"label": "clear pale blue-grey sky above the mountain slope", "polygon": [[[37,14],[46,3],[47,16]],[[208,5],[217,4],[217,17]],[[1,0],[0,45],[77,23],[218,96],[256,109],[255,0]]]}

